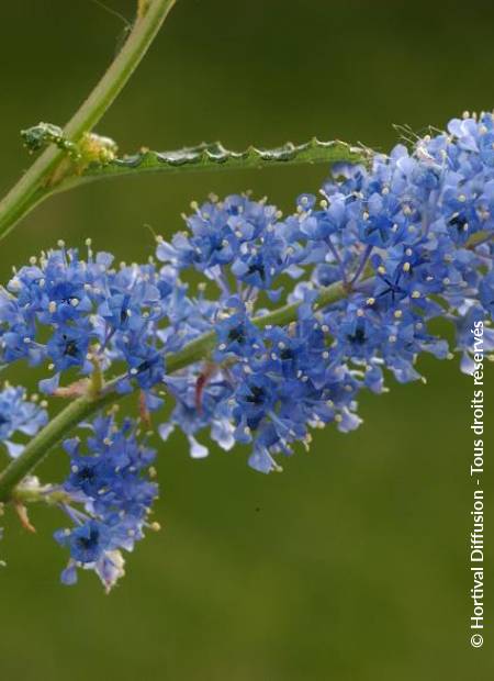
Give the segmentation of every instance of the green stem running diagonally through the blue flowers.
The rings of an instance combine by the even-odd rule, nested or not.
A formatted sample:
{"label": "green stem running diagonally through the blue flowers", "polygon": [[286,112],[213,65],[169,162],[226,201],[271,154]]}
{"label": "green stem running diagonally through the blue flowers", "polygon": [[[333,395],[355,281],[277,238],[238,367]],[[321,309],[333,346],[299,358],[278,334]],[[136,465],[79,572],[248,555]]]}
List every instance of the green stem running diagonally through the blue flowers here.
{"label": "green stem running diagonally through the blue flowers", "polygon": [[[345,298],[348,293],[348,288],[338,281],[322,289],[316,303],[318,306],[326,306]],[[284,326],[296,320],[299,306],[300,303],[297,302],[287,304],[278,310],[273,310],[269,314],[256,317],[254,323],[261,328],[270,324]],[[186,345],[178,353],[167,355],[167,372],[173,373],[175,371],[205,359],[214,347],[215,338],[215,332],[209,332]],[[115,390],[119,380],[120,378],[109,382],[104,391],[97,397],[91,398],[90,395],[85,395],[70,402],[70,404],[57,414],[47,426],[40,431],[36,437],[33,437],[21,456],[14,459],[1,473],[0,502],[9,500],[14,487],[19,484],[25,476],[32,472],[48,451],[67,437],[77,424],[122,398]]]}

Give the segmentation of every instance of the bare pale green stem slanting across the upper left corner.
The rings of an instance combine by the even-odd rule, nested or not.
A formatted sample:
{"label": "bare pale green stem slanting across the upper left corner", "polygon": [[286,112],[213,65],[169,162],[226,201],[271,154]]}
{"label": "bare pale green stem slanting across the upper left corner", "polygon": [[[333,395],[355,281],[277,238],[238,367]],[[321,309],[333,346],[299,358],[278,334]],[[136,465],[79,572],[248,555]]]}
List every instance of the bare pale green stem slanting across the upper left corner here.
{"label": "bare pale green stem slanting across the upper left corner", "polygon": [[[146,54],[176,0],[149,0],[138,14],[132,33],[94,90],[67,123],[64,134],[71,142],[90,132]],[[64,160],[65,153],[48,147],[0,202],[0,238],[8,234],[37,203],[48,197],[50,178]]]}

